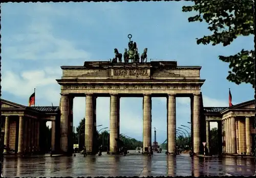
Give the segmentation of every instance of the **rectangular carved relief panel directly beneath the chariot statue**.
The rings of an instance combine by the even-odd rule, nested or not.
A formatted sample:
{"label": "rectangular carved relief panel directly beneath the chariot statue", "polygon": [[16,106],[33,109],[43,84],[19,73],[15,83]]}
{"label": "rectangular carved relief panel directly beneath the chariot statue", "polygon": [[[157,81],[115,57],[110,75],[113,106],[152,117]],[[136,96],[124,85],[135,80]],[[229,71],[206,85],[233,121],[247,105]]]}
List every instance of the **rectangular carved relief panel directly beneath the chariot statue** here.
{"label": "rectangular carved relief panel directly beneath the chariot statue", "polygon": [[114,69],[116,76],[147,76],[147,69]]}

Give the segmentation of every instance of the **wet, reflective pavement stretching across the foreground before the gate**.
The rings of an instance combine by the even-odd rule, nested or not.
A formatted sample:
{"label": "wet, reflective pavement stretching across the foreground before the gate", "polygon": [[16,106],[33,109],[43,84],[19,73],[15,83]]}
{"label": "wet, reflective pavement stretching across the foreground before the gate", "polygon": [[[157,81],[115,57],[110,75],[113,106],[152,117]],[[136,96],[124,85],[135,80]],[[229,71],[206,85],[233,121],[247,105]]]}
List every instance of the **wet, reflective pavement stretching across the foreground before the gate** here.
{"label": "wet, reflective pavement stretching across the foreground before the gate", "polygon": [[88,155],[75,157],[5,157],[3,176],[202,176],[254,175],[254,159],[202,158],[188,154],[177,156],[154,153],[153,157],[130,151],[126,156]]}

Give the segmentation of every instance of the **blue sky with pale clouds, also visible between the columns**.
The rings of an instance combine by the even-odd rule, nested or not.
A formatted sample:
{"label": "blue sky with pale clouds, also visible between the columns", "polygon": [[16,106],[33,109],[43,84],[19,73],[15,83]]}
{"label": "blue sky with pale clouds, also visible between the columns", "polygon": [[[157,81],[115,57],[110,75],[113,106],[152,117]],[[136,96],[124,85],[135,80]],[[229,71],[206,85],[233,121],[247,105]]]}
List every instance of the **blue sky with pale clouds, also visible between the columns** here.
{"label": "blue sky with pale clouds, also visible between the columns", "polygon": [[[177,61],[179,66],[202,66],[204,106],[228,106],[253,100],[249,84],[226,80],[228,63],[219,55],[233,55],[253,48],[253,36],[240,36],[226,47],[197,45],[209,35],[205,22],[188,23],[195,12],[182,12],[191,2],[109,3],[4,3],[1,4],[2,98],[28,106],[36,88],[36,106],[59,105],[60,66],[82,66],[84,61],[108,61],[113,49],[127,48],[133,35],[139,53],[147,48],[154,61]],[[85,97],[74,98],[74,126],[85,115]],[[110,126],[110,98],[97,98],[97,125]],[[120,133],[142,141],[142,98],[120,99]],[[166,139],[166,98],[152,99],[152,129],[157,141]],[[189,98],[176,100],[177,128],[190,127]],[[47,123],[51,126],[51,123]],[[98,127],[98,129],[102,128]],[[210,127],[217,127],[211,123]],[[107,129],[108,130],[108,129]],[[102,131],[102,130],[101,130]],[[189,131],[189,129],[187,130]],[[152,132],[154,134],[154,132]],[[154,135],[152,135],[154,139]]]}

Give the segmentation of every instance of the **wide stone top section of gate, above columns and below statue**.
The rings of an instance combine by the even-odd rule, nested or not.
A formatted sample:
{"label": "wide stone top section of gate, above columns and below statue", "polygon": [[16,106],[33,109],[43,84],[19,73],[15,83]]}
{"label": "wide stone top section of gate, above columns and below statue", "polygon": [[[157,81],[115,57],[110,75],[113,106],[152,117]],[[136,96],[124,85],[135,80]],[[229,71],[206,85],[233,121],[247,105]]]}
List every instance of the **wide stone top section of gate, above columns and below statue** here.
{"label": "wide stone top section of gate, above columns and below statue", "polygon": [[199,94],[205,80],[201,67],[177,66],[177,62],[113,64],[85,62],[84,66],[62,66],[61,93]]}

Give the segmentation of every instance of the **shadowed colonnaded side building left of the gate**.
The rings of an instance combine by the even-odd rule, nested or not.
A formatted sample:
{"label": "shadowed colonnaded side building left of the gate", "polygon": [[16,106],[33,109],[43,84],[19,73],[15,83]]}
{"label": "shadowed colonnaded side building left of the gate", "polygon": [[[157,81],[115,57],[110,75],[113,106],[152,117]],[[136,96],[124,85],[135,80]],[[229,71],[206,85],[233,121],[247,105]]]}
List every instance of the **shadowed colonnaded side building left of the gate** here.
{"label": "shadowed colonnaded side building left of the gate", "polygon": [[59,142],[56,139],[58,136],[55,136],[56,126],[59,125],[55,122],[58,122],[60,118],[59,107],[27,107],[3,99],[1,103],[3,144],[7,148],[4,153],[24,154],[50,151],[45,147],[47,121],[52,122],[51,150],[55,151]]}

